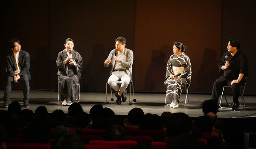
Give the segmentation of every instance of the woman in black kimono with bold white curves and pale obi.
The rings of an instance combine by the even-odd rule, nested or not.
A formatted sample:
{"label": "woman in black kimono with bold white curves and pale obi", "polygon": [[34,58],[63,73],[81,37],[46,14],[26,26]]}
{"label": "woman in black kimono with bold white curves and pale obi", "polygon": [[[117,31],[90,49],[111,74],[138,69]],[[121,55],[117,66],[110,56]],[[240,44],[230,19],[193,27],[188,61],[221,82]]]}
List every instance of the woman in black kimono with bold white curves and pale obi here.
{"label": "woman in black kimono with bold white curves and pale obi", "polygon": [[[189,57],[184,53],[186,46],[180,42],[173,43],[173,53],[167,62],[166,79],[166,101],[172,102],[171,108],[178,108],[182,86],[190,85],[191,63]],[[175,75],[179,74],[180,75]]]}

